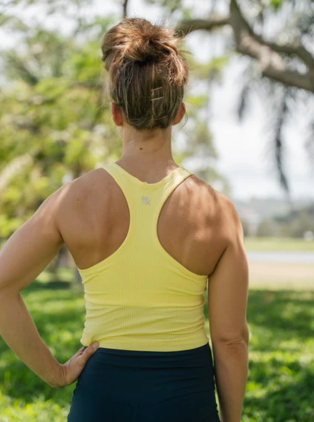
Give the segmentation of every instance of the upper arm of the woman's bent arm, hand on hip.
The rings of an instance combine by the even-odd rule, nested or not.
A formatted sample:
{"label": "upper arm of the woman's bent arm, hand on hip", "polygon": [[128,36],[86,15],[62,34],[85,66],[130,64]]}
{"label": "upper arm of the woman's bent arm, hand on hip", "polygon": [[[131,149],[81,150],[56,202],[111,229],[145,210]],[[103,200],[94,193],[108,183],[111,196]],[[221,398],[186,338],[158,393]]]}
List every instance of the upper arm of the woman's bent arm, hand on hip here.
{"label": "upper arm of the woman's bent arm, hand on hip", "polygon": [[14,293],[27,287],[64,244],[56,224],[62,187],[38,207],[0,251],[0,289]]}

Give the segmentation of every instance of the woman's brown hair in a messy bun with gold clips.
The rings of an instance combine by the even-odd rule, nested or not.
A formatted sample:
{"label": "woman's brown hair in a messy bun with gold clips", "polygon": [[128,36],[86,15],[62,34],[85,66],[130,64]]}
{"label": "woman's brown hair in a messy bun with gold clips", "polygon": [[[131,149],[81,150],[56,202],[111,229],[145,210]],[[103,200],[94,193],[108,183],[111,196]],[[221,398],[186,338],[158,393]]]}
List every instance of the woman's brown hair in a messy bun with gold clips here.
{"label": "woman's brown hair in a messy bun with gold clips", "polygon": [[107,93],[136,129],[167,128],[175,119],[189,80],[180,50],[183,38],[165,24],[125,18],[101,42],[109,72]]}

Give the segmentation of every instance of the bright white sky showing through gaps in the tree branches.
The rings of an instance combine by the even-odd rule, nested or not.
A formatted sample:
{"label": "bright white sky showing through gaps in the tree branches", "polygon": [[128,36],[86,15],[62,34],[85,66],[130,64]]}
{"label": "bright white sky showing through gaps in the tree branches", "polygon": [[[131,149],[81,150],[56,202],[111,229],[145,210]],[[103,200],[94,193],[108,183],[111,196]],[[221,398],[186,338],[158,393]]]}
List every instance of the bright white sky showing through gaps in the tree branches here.
{"label": "bright white sky showing through gaps in the tree branches", "polygon": [[[195,17],[203,17],[208,13],[207,2],[189,0],[195,8]],[[225,2],[218,2],[219,12],[224,14]],[[89,14],[121,14],[122,6],[119,2],[97,0],[93,8],[88,8],[84,13]],[[21,11],[22,12],[22,11]],[[38,7],[29,9],[29,19],[40,15]],[[23,16],[25,9],[23,10]],[[158,20],[162,15],[160,8],[146,6],[142,0],[130,0],[128,16]],[[47,26],[60,27],[60,20],[56,17],[46,17]],[[63,26],[66,32],[66,26]],[[70,30],[70,27],[68,26]],[[270,25],[268,35],[272,35],[276,25]],[[230,28],[224,28],[224,31]],[[2,31],[3,32],[3,31]],[[3,43],[9,45],[8,34],[0,33]],[[200,31],[193,32],[186,37],[190,51],[193,51],[197,60],[206,62],[213,57],[219,57],[224,51],[224,37],[220,32],[207,34]],[[243,69],[247,60],[239,56],[232,58],[223,71],[221,83],[211,85],[210,120],[208,126],[214,137],[219,160],[216,168],[224,174],[231,184],[231,195],[234,198],[248,200],[250,197],[285,198],[279,185],[273,149],[271,148],[272,132],[269,129],[267,102],[256,92],[251,96],[249,113],[243,122],[236,119],[237,102],[239,101],[240,88],[243,83]],[[242,78],[242,80],[241,80]],[[304,149],[304,140],[307,135],[305,118],[314,114],[314,101],[311,110],[296,110],[289,126],[284,131],[285,162],[284,166],[291,187],[292,199],[314,199],[314,164],[309,163]],[[185,163],[185,167],[195,171],[195,161]]]}

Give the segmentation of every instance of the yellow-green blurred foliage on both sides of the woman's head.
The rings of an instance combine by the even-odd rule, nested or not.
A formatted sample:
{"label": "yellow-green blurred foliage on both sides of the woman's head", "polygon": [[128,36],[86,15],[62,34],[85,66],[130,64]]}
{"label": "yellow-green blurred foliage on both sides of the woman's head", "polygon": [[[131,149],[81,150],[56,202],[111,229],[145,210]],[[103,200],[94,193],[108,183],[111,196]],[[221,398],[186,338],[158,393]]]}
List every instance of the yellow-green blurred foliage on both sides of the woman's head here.
{"label": "yellow-green blurred foliage on both sides of the woman's head", "polygon": [[[102,34],[117,17],[82,20],[70,36],[29,26],[15,16],[0,17],[5,27],[20,34],[23,46],[3,52],[10,83],[0,94],[0,237],[7,238],[63,183],[117,160],[122,140],[102,88],[108,75],[99,48]],[[207,65],[188,60],[189,122],[179,126],[182,133],[174,137],[173,156],[184,166],[185,159],[201,154],[205,168],[195,173],[208,183],[220,180],[228,193],[227,181],[215,170],[218,156],[206,119],[210,97],[193,92],[208,83],[208,74],[210,80],[219,78],[227,59]],[[182,137],[185,147],[179,148],[177,138]]]}

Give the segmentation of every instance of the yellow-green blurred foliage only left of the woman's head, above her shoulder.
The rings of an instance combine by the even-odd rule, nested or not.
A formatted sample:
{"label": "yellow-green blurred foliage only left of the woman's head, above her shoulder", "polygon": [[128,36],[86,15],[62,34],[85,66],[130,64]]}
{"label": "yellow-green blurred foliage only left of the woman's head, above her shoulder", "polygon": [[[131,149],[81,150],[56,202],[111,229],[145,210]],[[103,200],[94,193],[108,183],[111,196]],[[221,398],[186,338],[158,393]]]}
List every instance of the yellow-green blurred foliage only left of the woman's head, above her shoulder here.
{"label": "yellow-green blurred foliage only left of the woman's head, above her shoulder", "polygon": [[12,83],[0,98],[3,237],[26,221],[65,177],[92,170],[120,149],[108,107],[101,117],[99,113],[96,41],[80,46],[54,31],[28,29],[25,52],[4,54]]}

